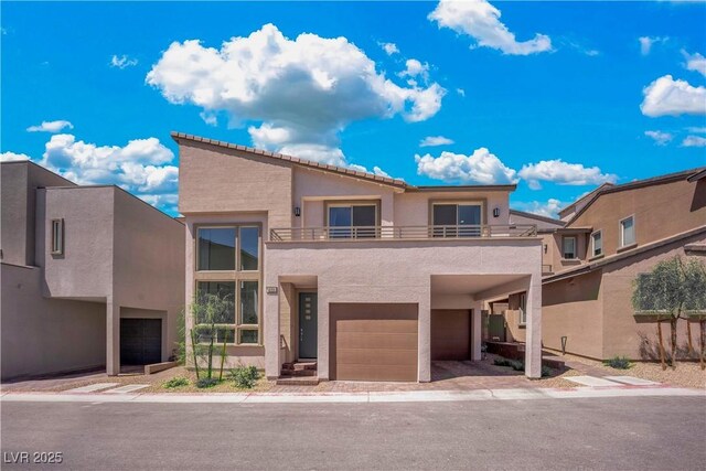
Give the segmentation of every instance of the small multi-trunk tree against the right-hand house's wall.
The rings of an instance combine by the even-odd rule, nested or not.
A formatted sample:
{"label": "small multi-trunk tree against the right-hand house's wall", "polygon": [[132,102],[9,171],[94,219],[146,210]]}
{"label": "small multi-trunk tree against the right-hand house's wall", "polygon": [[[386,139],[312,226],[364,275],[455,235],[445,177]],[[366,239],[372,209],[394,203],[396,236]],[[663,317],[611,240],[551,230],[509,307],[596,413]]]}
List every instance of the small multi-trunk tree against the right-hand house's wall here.
{"label": "small multi-trunk tree against the right-hand house's wall", "polygon": [[[660,360],[664,362],[662,321],[670,322],[672,367],[676,368],[676,323],[692,313],[706,310],[706,267],[698,260],[683,261],[680,256],[660,261],[649,274],[641,274],[634,282],[632,304],[635,311],[655,314],[660,340]],[[688,319],[687,319],[688,327]],[[691,344],[691,327],[689,344]],[[704,355],[702,322],[702,357]]]}

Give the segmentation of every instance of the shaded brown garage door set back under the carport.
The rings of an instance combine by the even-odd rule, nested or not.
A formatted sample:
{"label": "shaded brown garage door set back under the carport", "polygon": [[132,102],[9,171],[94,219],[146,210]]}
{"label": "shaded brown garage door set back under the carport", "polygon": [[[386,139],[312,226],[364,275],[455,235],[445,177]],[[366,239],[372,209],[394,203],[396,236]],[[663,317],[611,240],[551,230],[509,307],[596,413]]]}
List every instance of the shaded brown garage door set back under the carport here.
{"label": "shaded brown garage door set back under the carport", "polygon": [[431,360],[471,357],[471,313],[464,309],[431,310]]}

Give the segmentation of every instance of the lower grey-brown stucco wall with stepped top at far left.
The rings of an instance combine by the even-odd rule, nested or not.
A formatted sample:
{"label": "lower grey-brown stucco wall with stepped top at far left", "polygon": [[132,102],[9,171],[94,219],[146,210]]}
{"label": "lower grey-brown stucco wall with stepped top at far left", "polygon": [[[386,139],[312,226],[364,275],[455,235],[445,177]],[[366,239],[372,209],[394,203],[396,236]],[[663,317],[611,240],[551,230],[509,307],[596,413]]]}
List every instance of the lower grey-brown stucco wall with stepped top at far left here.
{"label": "lower grey-brown stucco wall with stepped top at far left", "polygon": [[0,267],[2,379],[105,365],[105,303],[43,298],[40,268]]}

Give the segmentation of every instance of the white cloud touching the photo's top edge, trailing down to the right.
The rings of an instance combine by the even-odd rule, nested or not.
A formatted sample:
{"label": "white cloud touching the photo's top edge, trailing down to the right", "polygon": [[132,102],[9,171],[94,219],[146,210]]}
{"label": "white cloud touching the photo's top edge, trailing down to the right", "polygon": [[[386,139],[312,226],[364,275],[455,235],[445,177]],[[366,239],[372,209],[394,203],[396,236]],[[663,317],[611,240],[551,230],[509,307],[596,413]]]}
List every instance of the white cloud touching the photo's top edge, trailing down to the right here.
{"label": "white cloud touching the photo's top edge, trailing down to the right", "polygon": [[479,46],[492,47],[504,54],[527,55],[552,51],[552,40],[545,34],[517,41],[515,34],[500,21],[501,12],[485,0],[441,0],[429,13],[439,28],[450,28],[472,36]]}

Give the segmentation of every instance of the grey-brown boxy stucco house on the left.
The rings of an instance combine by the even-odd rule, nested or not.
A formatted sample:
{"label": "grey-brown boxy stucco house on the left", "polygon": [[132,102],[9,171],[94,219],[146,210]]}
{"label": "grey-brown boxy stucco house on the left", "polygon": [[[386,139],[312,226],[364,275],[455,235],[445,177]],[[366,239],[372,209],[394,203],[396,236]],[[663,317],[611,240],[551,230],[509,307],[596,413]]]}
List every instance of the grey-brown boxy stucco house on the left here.
{"label": "grey-brown boxy stucco house on the left", "polygon": [[3,162],[3,379],[167,361],[184,306],[184,226],[117,186]]}

